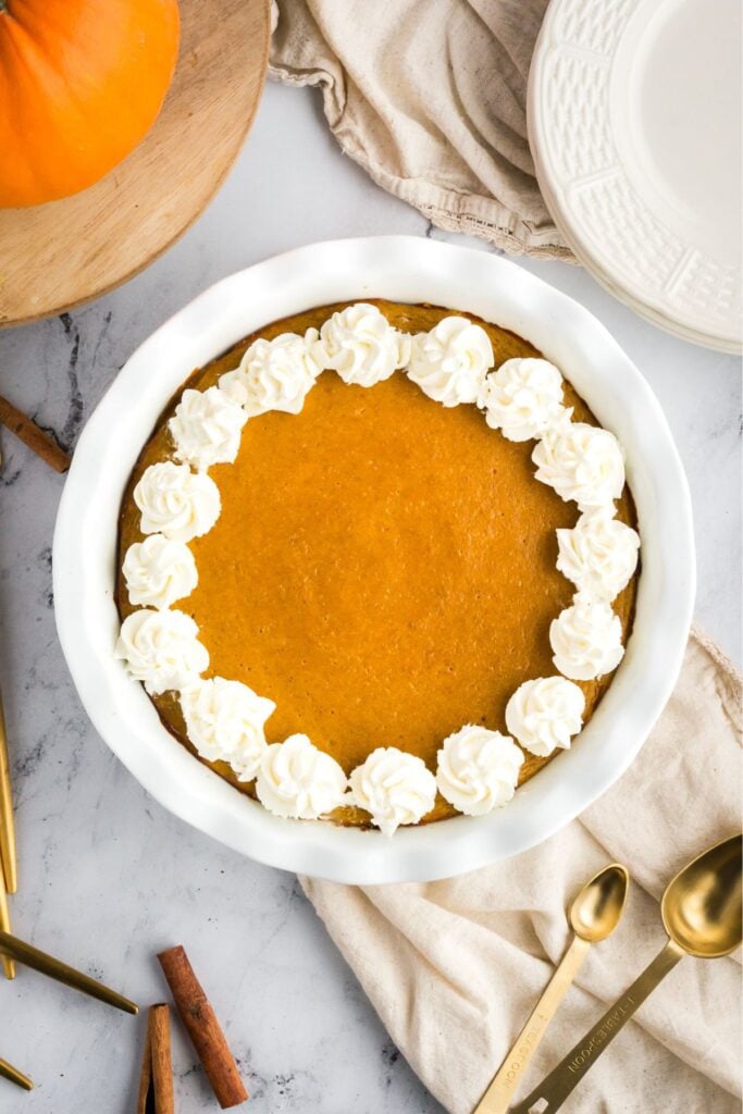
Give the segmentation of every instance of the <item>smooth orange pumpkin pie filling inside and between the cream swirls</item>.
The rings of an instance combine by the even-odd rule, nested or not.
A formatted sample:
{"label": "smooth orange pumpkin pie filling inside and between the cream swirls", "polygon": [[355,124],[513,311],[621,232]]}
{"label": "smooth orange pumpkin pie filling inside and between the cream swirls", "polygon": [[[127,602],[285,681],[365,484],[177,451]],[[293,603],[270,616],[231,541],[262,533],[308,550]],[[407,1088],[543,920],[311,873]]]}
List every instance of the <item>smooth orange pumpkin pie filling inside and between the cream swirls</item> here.
{"label": "smooth orange pumpkin pie filling inside and between the cream swirls", "polygon": [[[373,304],[412,334],[452,312]],[[194,372],[187,385],[204,391],[256,338],[304,335],[343,307],[264,326]],[[490,338],[496,367],[539,355],[512,333],[468,316]],[[119,568],[145,538],[134,488],[149,466],[173,459],[167,421],[177,398],[127,488]],[[597,424],[567,380],[564,402],[574,422]],[[248,420],[234,463],[209,468],[221,514],[190,540],[198,583],[175,605],[195,620],[208,649],[204,677],[238,680],[275,702],[266,740],[306,734],[346,774],[379,746],[417,755],[434,773],[442,741],[462,724],[507,733],[511,694],[556,672],[550,623],[575,593],[556,568],[556,530],[574,527],[579,510],[535,480],[532,450],[532,441],[490,429],[473,405],[434,402],[404,372],[366,388],[326,370],[300,413]],[[626,487],[616,517],[635,525]],[[625,642],[635,585],[633,577],[612,605]],[[134,608],[121,574],[117,599],[124,619]],[[584,724],[609,683],[610,674],[577,682]],[[166,727],[196,753],[177,694],[151,698]],[[519,783],[549,760],[526,753]],[[207,764],[255,795],[254,782],[239,782],[227,763]],[[453,814],[439,794],[424,821]],[[369,822],[354,807],[333,819]]]}

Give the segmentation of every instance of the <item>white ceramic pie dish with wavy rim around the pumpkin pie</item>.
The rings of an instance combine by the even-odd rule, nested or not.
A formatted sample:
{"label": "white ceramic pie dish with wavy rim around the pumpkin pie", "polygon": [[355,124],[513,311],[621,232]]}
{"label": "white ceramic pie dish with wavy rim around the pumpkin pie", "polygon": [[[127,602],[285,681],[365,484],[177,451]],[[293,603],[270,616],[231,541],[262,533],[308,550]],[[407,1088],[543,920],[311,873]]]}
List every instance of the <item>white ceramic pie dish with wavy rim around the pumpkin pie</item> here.
{"label": "white ceramic pie dish with wavy rim around the pumpkin pie", "polygon": [[[385,297],[480,314],[527,338],[620,439],[643,537],[635,629],[616,677],[570,751],[489,817],[377,831],[281,820],[197,762],[163,727],[113,651],[119,505],[164,405],[190,370],[277,317],[314,305]],[[606,330],[514,263],[423,238],[302,247],[217,283],[135,352],[88,421],[57,519],[57,626],[96,729],[162,804],[261,862],[343,882],[443,878],[532,847],[585,809],[629,765],[676,680],[694,596],[688,490],[665,419]]]}

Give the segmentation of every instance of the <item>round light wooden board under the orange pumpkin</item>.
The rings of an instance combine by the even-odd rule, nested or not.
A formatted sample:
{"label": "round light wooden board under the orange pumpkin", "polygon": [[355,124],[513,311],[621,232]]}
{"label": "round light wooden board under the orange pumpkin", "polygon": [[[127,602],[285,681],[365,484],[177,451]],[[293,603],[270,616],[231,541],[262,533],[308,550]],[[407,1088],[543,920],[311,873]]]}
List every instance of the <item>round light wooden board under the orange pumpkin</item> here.
{"label": "round light wooden board under the orange pumpkin", "polygon": [[140,145],[74,197],[0,209],[0,326],[99,297],[148,266],[209,203],[255,116],[270,0],[180,0],[180,53]]}

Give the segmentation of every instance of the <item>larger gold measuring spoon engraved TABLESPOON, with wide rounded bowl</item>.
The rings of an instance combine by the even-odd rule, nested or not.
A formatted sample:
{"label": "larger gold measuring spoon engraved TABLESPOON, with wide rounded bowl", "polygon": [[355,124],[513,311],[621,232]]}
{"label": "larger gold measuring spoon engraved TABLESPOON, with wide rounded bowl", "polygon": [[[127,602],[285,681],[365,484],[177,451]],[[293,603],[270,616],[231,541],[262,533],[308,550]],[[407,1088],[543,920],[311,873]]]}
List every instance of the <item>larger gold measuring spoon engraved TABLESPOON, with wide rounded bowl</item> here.
{"label": "larger gold measuring spoon engraved TABLESPOON, with wide rounded bowl", "polygon": [[[741,837],[716,843],[673,878],[661,901],[668,941],[639,978],[512,1114],[558,1111],[635,1010],[684,956],[717,959],[741,944]],[[546,1105],[545,1105],[546,1101]]]}

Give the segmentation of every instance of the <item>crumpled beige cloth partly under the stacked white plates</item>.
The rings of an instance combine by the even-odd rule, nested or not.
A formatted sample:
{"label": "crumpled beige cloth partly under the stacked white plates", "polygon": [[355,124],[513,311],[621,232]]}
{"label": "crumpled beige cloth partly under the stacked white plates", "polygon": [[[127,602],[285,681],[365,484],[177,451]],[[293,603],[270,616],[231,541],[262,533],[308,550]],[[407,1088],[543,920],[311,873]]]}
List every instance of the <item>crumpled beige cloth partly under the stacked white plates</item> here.
{"label": "crumpled beige cloth partly under the stacked white plates", "polygon": [[514,253],[570,253],[526,127],[547,0],[280,0],[272,77],[321,86],[341,147],[441,228]]}

